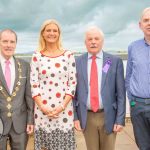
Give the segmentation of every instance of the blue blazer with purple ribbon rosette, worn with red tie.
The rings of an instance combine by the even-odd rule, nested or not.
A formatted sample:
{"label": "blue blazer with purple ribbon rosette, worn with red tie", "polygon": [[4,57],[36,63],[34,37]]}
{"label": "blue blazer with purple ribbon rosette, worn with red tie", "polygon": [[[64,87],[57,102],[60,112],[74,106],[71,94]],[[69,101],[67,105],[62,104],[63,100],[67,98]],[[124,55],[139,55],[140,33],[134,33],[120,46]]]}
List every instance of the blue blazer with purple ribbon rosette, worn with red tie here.
{"label": "blue blazer with purple ribbon rosette, worn with red tie", "polygon": [[[77,87],[74,97],[74,119],[80,120],[81,127],[86,127],[87,121],[87,76],[88,53],[76,59]],[[105,128],[108,133],[114,124],[125,124],[125,83],[122,60],[103,52],[103,68],[109,64],[108,71],[102,70],[101,97],[104,106]]]}

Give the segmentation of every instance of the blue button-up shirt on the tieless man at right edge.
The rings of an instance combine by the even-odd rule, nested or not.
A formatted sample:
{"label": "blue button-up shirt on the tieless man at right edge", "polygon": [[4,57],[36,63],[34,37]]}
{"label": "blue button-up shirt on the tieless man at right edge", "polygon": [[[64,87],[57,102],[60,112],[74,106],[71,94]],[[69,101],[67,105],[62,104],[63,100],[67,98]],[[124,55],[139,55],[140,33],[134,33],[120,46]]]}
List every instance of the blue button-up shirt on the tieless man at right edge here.
{"label": "blue button-up shirt on the tieless man at right edge", "polygon": [[150,98],[150,45],[144,39],[129,45],[126,89],[129,100]]}

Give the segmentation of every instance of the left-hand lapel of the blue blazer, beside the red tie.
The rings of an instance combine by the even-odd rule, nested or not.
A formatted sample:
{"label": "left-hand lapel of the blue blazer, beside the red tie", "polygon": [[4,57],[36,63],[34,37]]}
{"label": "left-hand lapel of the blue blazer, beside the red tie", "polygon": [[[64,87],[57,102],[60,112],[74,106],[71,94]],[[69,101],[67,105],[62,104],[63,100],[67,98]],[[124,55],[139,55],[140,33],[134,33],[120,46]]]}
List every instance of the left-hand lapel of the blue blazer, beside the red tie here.
{"label": "left-hand lapel of the blue blazer, beside the red tie", "polygon": [[82,74],[83,74],[86,90],[88,91],[88,72],[87,72],[88,53],[84,54],[83,58],[81,59],[83,59],[83,61],[81,61]]}

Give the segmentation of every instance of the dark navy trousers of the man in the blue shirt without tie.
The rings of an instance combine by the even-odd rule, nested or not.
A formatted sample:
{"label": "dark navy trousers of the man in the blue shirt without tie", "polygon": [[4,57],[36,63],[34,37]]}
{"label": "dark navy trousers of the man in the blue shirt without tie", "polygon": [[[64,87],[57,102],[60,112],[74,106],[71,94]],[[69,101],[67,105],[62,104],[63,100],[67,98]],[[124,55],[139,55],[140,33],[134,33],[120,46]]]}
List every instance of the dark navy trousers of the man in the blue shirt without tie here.
{"label": "dark navy trousers of the man in the blue shirt without tie", "polygon": [[136,144],[140,150],[150,150],[150,104],[135,103],[131,107],[131,121]]}

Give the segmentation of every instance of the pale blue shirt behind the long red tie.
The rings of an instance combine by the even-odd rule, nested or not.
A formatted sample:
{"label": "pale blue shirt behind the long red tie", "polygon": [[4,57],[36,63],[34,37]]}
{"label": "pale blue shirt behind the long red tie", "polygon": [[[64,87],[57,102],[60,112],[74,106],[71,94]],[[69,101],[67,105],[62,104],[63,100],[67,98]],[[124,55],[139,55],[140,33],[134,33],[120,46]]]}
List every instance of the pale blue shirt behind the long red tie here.
{"label": "pale blue shirt behind the long red tie", "polygon": [[[90,104],[90,73],[91,73],[91,64],[92,64],[92,54],[88,53],[88,99],[87,99],[87,108],[91,110]],[[98,71],[98,91],[99,91],[99,109],[103,109],[102,97],[101,97],[101,79],[102,79],[102,66],[103,66],[103,51],[100,51],[96,55],[96,64],[97,64],[97,71]]]}

